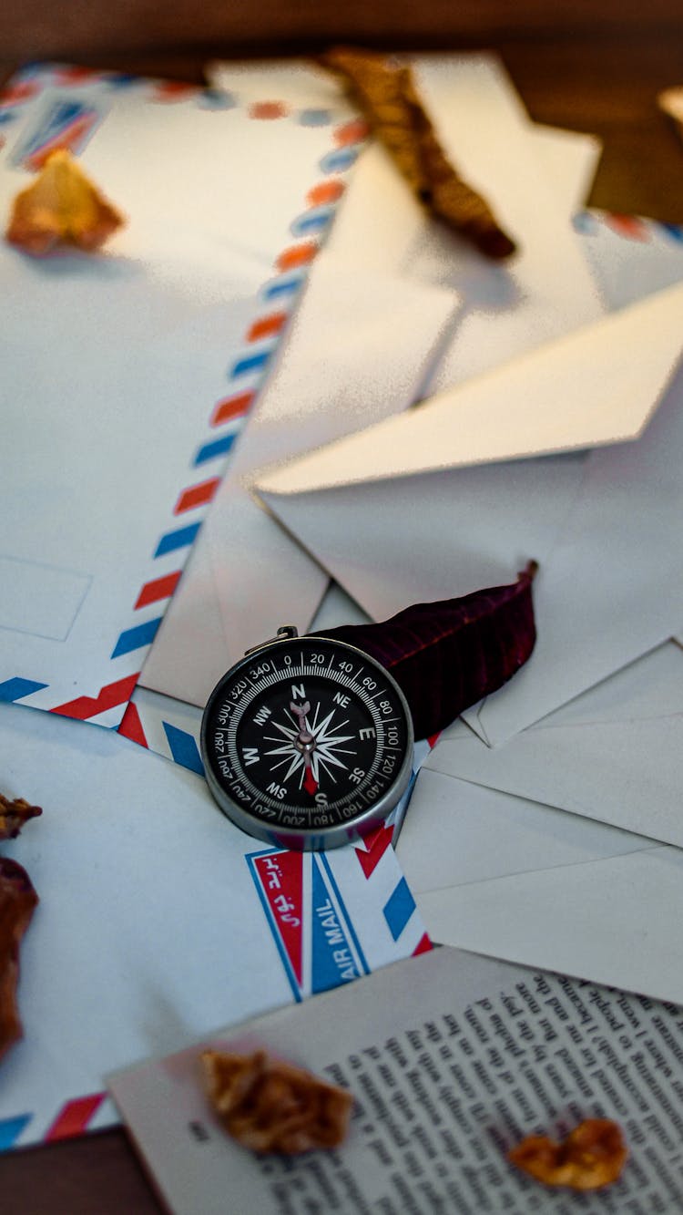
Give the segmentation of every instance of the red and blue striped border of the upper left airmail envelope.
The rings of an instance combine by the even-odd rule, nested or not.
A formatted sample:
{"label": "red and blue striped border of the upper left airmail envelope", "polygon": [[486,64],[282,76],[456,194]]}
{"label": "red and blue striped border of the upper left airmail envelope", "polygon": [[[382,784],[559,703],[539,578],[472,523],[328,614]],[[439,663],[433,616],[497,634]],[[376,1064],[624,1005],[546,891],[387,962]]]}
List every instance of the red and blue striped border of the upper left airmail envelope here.
{"label": "red and blue striped border of the upper left airmail envelope", "polygon": [[[23,113],[23,107],[47,86],[78,90],[79,86],[93,85],[103,91],[137,87],[148,101],[158,103],[194,100],[212,109],[238,106],[238,98],[233,94],[215,89],[137,79],[121,73],[98,73],[68,64],[38,64],[19,72],[0,95],[0,124],[7,124]],[[93,689],[90,695],[55,703],[49,683],[17,673],[0,683],[0,701],[45,708],[63,717],[107,727],[121,724],[144,656],[156,635],[164,610],[178,584],[184,561],[221,484],[226,460],[229,459],[232,447],[266,379],[272,356],[285,335],[311,262],[343,194],[342,176],[352,168],[366,135],[366,126],[358,118],[340,120],[338,112],[331,109],[297,111],[277,98],[251,103],[246,112],[256,122],[289,118],[308,126],[328,125],[331,148],[319,162],[320,176],[307,192],[303,210],[291,221],[291,242],[277,255],[273,276],[257,294],[256,316],[244,335],[243,349],[227,372],[226,395],[211,407],[207,434],[190,462],[192,477],[177,495],[169,527],[158,537],[150,554],[149,578],[141,586],[131,606],[132,621],[113,642],[109,661],[119,666],[119,676],[99,689]],[[136,733],[136,741],[140,741],[141,731],[135,723],[131,727],[131,719],[127,724],[124,723],[123,733],[129,733],[131,728]]]}

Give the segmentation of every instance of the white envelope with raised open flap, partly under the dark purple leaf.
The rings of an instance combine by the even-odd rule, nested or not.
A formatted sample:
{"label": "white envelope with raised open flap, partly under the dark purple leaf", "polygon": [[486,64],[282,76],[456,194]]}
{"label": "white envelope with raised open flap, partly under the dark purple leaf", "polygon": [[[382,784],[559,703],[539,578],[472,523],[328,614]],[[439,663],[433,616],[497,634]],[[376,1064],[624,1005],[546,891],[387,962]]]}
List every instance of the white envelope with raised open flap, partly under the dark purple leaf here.
{"label": "white envelope with raised open flap, partly under the dark purple leaf", "polygon": [[[453,397],[454,407],[460,394],[469,403],[462,437],[444,399],[437,399],[257,479],[267,505],[376,620],[411,601],[512,582],[529,558],[540,563],[535,651],[514,680],[467,714],[491,745],[679,627],[681,315],[678,284],[524,356],[507,373],[463,385]],[[624,340],[610,340],[616,334]],[[491,385],[496,391],[489,396]],[[537,429],[524,429],[527,389],[531,406],[543,405]],[[510,405],[511,418],[518,411],[518,428],[506,423],[501,402]],[[611,416],[602,435],[601,409],[603,422]],[[503,458],[500,435],[512,440],[510,454],[522,456],[535,434],[542,442],[562,431],[567,441],[573,424],[571,446],[605,446],[590,454]],[[403,442],[408,428],[411,442]],[[634,442],[615,442],[636,435]],[[449,457],[462,467],[448,468]],[[471,457],[480,463],[467,467]],[[354,481],[363,474],[366,480]],[[410,561],[403,555],[408,549]]]}

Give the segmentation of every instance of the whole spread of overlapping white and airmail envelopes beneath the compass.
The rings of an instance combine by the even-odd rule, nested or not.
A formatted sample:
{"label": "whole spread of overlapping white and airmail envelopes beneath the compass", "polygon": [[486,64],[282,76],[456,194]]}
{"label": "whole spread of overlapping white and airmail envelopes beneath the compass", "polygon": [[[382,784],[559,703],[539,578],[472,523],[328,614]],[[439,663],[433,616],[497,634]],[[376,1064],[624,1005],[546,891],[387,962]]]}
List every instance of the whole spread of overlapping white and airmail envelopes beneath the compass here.
{"label": "whole spread of overlapping white and airmail envelopes beneath the compass", "polygon": [[[7,848],[42,906],[0,1146],[84,1094],[101,1125],[104,1072],[340,982],[314,898],[358,974],[426,925],[683,1001],[681,234],[573,224],[597,143],[533,126],[491,57],[416,68],[519,244],[505,267],[431,224],[304,64],[215,64],[200,92],[32,69],[0,107],[5,209],[67,145],[129,217],[96,259],[0,250],[0,776],[44,804]],[[283,623],[381,620],[530,558],[536,649],[422,748],[398,863],[274,878],[204,785],[216,680]]]}

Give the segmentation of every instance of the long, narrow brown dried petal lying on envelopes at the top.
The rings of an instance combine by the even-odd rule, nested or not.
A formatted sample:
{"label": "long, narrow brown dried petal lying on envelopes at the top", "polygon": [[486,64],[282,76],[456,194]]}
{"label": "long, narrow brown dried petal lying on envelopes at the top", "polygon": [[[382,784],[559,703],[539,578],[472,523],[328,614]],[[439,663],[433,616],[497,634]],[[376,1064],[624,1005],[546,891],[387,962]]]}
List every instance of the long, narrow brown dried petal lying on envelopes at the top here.
{"label": "long, narrow brown dried petal lying on envelopes at the top", "polygon": [[341,73],[375,135],[433,215],[489,258],[497,260],[514,253],[514,241],[500,226],[485,198],[460,176],[444,153],[410,67],[348,47],[328,51],[323,63]]}

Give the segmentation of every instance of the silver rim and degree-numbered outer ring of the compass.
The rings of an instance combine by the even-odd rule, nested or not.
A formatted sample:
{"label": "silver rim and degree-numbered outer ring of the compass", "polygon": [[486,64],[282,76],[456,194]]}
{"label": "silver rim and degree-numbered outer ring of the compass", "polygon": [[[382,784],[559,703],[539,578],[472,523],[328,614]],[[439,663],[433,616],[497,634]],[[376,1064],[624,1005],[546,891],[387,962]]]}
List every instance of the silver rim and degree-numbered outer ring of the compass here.
{"label": "silver rim and degree-numbered outer ring of the compass", "polygon": [[[250,707],[254,707],[258,695],[263,700],[271,689],[273,693],[275,689],[281,689],[283,684],[295,677],[297,668],[298,678],[302,678],[306,651],[309,659],[313,654],[319,656],[320,651],[325,654],[325,662],[314,663],[313,669],[307,672],[308,678],[326,682],[331,690],[337,688],[346,695],[353,696],[357,711],[358,706],[368,711],[368,702],[382,695],[382,691],[375,691],[371,696],[369,690],[354,686],[353,677],[349,682],[349,678],[345,679],[342,671],[332,668],[336,661],[340,665],[342,662],[353,662],[354,667],[358,665],[355,678],[375,680],[376,685],[386,688],[387,696],[391,697],[391,718],[388,710],[383,711],[386,724],[388,725],[389,720],[400,723],[398,741],[394,745],[389,746],[387,742],[382,750],[380,744],[383,739],[377,739],[379,758],[372,776],[368,776],[363,782],[362,791],[349,787],[343,797],[335,799],[334,807],[337,807],[338,813],[334,807],[331,812],[329,806],[315,809],[311,804],[292,806],[289,801],[284,807],[278,807],[273,804],[273,798],[267,806],[268,798],[247,775],[246,765],[240,762],[237,751],[235,740],[240,719]],[[291,662],[285,672],[288,654],[291,656]],[[281,667],[279,672],[272,668],[273,662],[278,661]],[[279,674],[266,693],[262,688],[261,690],[257,688],[264,663],[271,668],[272,676]],[[221,714],[223,714],[222,720],[220,720]],[[412,774],[412,719],[405,696],[387,668],[347,642],[326,638],[319,633],[298,637],[294,629],[285,638],[275,638],[249,650],[218,680],[204,710],[200,746],[206,781],[221,810],[249,835],[278,847],[297,850],[324,850],[358,842],[386,821],[406,791]],[[380,773],[382,756],[388,758],[389,755],[394,759],[391,773]],[[370,779],[372,784],[369,784]],[[370,797],[372,792],[374,796]],[[347,804],[342,807],[342,802]]]}

